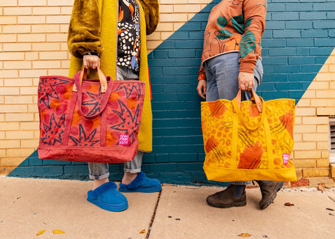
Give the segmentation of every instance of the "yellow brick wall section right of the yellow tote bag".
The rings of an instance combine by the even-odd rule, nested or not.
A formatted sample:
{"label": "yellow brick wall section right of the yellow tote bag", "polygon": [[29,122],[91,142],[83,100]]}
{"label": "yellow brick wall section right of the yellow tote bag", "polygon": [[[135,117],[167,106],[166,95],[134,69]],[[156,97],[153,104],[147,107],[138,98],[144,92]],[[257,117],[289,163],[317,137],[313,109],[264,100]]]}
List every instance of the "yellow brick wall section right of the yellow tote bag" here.
{"label": "yellow brick wall section right of the yellow tote bag", "polygon": [[335,116],[335,49],[297,104],[292,160],[301,177],[329,176],[329,116]]}

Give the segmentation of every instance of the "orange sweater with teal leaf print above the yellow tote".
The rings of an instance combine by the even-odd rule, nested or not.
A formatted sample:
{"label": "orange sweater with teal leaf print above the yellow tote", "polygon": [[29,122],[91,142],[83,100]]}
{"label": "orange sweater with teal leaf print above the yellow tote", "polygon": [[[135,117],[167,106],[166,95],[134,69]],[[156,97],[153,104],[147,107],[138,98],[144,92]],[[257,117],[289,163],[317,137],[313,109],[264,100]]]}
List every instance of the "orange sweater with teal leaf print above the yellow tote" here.
{"label": "orange sweater with teal leaf print above the yellow tote", "polygon": [[206,79],[203,63],[228,52],[239,52],[240,72],[250,72],[260,57],[267,0],[222,0],[211,9],[204,31],[200,79]]}

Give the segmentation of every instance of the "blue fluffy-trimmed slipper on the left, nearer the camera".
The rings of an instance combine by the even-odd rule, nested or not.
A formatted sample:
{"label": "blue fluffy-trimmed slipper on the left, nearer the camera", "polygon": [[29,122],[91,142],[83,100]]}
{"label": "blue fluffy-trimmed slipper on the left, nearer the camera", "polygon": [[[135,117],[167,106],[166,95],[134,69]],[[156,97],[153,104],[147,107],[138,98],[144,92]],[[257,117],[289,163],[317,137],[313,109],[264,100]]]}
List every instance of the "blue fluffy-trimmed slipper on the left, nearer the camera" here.
{"label": "blue fluffy-trimmed slipper on the left, nearer the camera", "polygon": [[128,208],[126,196],[117,191],[117,185],[114,182],[104,183],[95,190],[87,192],[87,201],[112,212],[120,212]]}

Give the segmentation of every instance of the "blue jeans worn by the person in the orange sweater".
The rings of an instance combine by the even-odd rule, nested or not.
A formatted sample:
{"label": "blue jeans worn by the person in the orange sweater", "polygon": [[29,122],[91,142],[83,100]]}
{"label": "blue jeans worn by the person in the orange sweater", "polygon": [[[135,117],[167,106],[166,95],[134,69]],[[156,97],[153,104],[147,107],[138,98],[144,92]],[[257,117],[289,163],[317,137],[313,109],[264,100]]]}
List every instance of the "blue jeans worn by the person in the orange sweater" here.
{"label": "blue jeans worn by the person in the orange sweater", "polygon": [[[239,91],[239,52],[230,52],[215,56],[212,59],[204,61],[204,71],[207,78],[206,101],[215,101],[218,99],[232,100]],[[262,82],[263,66],[262,61],[258,59],[255,70],[255,86],[253,90]],[[241,100],[250,100],[250,91],[241,92]],[[246,185],[251,182],[232,182],[233,184]]]}

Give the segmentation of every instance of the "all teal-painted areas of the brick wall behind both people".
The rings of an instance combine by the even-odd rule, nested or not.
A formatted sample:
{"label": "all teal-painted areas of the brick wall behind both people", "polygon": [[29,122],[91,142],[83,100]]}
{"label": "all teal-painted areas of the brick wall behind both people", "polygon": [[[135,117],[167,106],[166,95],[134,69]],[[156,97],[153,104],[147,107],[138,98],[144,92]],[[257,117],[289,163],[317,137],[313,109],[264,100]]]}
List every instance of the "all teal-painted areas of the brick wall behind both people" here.
{"label": "all teal-painted areas of the brick wall behind both people", "polygon": [[[204,149],[196,93],[203,33],[215,0],[149,54],[152,88],[152,153],[142,170],[163,183],[208,182],[202,171]],[[295,98],[313,81],[335,47],[335,1],[268,1],[262,38],[265,100]],[[121,180],[121,164],[110,164],[111,180]],[[87,164],[38,159],[37,152],[10,176],[87,179]]]}

